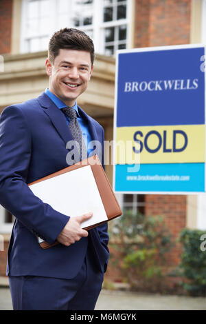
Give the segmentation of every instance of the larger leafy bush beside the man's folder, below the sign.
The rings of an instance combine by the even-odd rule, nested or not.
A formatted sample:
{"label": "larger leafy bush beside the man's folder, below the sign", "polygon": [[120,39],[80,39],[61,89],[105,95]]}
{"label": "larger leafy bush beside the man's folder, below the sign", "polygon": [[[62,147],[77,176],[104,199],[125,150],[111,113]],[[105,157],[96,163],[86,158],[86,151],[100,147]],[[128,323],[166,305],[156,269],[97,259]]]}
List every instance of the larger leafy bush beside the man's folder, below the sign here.
{"label": "larger leafy bush beside the man's folder, below the sign", "polygon": [[165,274],[165,253],[172,247],[171,234],[163,217],[134,214],[125,210],[113,221],[111,261],[119,267],[124,281],[135,290],[161,292]]}

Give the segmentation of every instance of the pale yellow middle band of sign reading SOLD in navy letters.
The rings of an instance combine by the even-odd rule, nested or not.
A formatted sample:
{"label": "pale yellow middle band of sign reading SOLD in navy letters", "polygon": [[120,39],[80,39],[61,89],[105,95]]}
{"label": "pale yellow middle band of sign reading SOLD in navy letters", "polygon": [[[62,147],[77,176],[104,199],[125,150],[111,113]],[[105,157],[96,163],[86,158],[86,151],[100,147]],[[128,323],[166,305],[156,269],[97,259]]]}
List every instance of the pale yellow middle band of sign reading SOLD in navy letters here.
{"label": "pale yellow middle band of sign reading SOLD in navy letters", "polygon": [[128,146],[123,153],[127,164],[134,163],[139,152],[141,164],[205,162],[205,125],[119,127],[116,163],[122,164],[118,143]]}

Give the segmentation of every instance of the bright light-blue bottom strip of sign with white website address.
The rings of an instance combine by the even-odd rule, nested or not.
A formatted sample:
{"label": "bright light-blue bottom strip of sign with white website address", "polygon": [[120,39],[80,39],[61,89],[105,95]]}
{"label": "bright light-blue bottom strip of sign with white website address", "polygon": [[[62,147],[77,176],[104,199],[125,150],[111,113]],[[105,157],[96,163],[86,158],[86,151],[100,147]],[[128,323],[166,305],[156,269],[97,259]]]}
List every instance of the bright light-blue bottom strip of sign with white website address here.
{"label": "bright light-blue bottom strip of sign with white website address", "polygon": [[117,192],[205,192],[205,163],[142,164],[137,173],[128,167],[115,166]]}

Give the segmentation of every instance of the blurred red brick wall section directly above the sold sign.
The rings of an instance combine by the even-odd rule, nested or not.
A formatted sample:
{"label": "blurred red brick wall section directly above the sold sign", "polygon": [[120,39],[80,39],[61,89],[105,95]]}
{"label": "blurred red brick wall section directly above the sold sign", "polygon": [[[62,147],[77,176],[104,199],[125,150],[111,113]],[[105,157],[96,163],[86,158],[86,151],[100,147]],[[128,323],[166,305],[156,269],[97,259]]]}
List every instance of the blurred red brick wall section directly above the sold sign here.
{"label": "blurred red brick wall section directly above the sold sign", "polygon": [[135,47],[190,43],[190,0],[136,0]]}

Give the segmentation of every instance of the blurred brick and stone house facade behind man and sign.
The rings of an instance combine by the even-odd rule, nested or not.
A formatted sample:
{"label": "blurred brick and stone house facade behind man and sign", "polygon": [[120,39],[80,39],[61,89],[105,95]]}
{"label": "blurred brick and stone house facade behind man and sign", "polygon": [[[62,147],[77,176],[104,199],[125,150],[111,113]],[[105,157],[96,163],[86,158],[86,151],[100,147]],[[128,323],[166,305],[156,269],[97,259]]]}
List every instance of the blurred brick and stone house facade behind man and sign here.
{"label": "blurred brick and stone house facade behind man and sign", "polygon": [[[115,51],[206,43],[206,0],[1,0],[0,113],[47,88],[47,44],[53,32],[64,27],[82,29],[94,41],[95,68],[78,105],[100,122],[105,139],[111,141]],[[106,165],[106,174],[112,183],[112,165]],[[174,239],[184,227],[206,229],[201,194],[117,194],[117,199],[123,209],[163,215]],[[0,276],[5,275],[13,221],[0,205]],[[179,263],[180,254],[176,245],[170,255],[172,264]]]}

